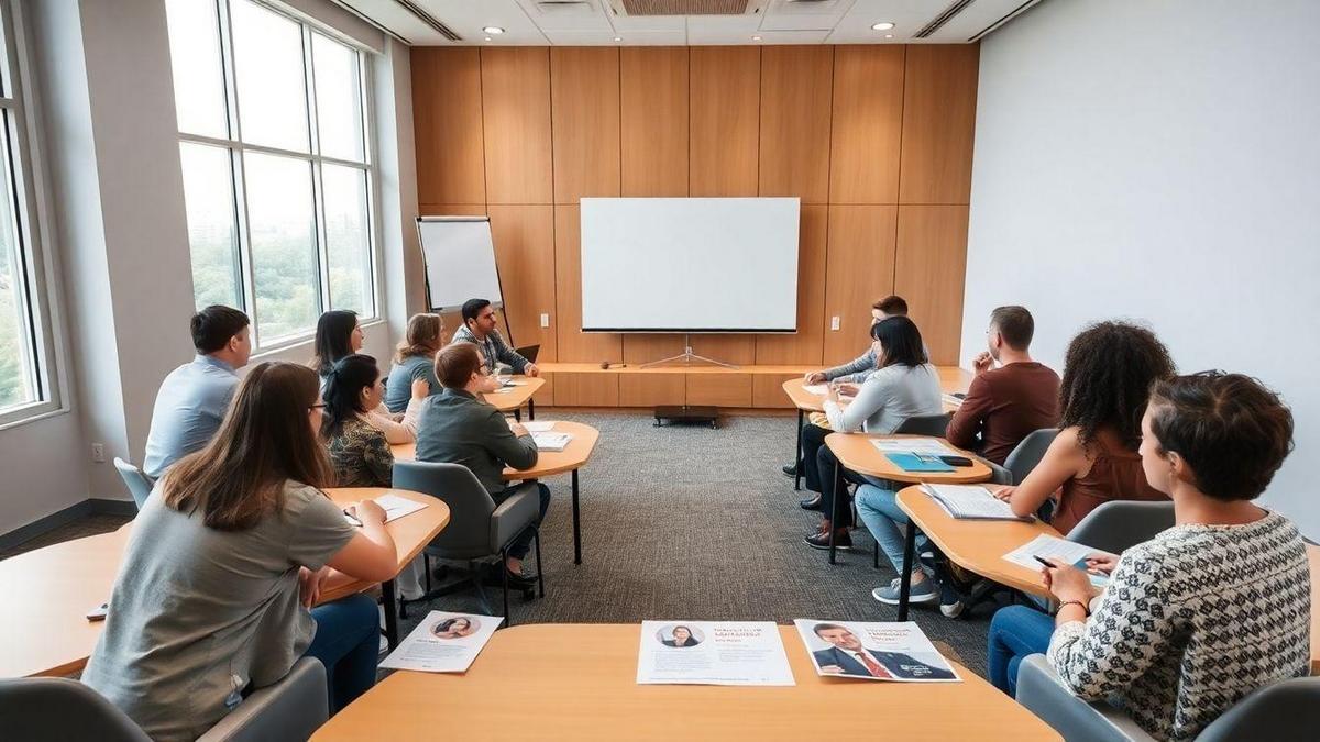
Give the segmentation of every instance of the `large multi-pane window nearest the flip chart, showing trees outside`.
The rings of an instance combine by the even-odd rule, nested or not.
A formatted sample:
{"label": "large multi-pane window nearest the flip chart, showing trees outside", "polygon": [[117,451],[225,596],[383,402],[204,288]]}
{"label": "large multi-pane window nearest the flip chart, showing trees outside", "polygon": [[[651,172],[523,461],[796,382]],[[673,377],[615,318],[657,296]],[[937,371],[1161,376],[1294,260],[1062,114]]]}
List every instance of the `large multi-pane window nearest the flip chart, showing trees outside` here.
{"label": "large multi-pane window nearest the flip chart, showing trees outside", "polygon": [[168,0],[197,306],[256,343],[376,314],[363,53],[253,0]]}

